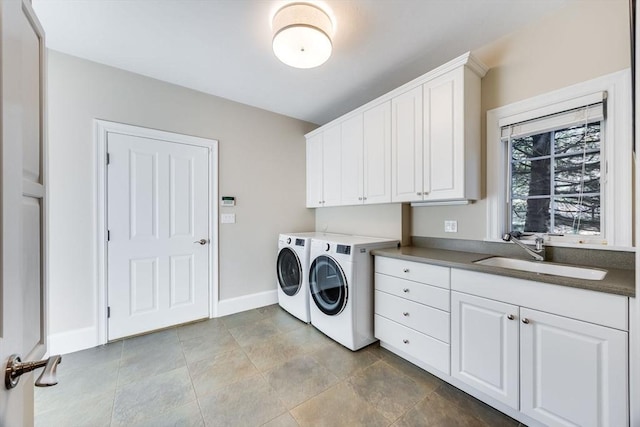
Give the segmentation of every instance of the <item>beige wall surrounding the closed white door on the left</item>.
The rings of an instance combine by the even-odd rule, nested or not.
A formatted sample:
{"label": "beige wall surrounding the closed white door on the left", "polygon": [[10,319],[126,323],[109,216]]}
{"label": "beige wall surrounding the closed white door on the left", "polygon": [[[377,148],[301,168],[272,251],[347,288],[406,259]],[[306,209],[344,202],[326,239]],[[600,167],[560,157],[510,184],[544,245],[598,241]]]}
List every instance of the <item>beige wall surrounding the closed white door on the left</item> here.
{"label": "beige wall surrounding the closed white door on the left", "polygon": [[[305,206],[304,133],[315,126],[49,52],[50,332],[96,327],[94,118],[219,141],[220,299],[275,291],[277,237],[314,229]],[[242,84],[239,82],[238,84]],[[217,201],[214,201],[217,203]]]}

